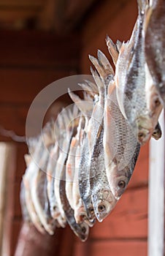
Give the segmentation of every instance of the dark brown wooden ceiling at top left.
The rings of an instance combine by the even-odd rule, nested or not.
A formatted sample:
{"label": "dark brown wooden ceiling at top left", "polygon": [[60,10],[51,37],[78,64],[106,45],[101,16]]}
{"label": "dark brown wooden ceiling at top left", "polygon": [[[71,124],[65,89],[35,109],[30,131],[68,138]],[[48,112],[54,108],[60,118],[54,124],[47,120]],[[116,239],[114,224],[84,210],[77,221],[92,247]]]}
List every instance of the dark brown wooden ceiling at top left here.
{"label": "dark brown wooden ceiling at top left", "polygon": [[69,32],[97,0],[0,0],[0,29]]}

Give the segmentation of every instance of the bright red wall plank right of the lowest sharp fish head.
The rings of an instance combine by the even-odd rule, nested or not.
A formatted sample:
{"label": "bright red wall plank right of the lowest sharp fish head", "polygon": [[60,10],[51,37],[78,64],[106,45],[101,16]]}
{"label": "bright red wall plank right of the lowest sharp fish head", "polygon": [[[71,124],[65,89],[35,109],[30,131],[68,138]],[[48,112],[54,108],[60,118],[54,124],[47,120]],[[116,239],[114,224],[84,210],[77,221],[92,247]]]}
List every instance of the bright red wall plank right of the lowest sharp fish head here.
{"label": "bright red wall plank right of the lowest sharp fish head", "polygon": [[147,188],[127,190],[103,222],[91,228],[90,238],[147,238]]}

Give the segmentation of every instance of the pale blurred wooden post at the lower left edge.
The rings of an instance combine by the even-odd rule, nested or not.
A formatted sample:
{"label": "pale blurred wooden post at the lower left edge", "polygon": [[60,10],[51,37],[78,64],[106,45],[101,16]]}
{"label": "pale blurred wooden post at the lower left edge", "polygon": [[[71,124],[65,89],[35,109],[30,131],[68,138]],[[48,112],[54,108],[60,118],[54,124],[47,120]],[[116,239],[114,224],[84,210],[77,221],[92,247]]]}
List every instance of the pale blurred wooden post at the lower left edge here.
{"label": "pale blurred wooden post at the lower left edge", "polygon": [[13,143],[0,143],[0,255],[10,255],[14,216],[14,179],[16,150]]}

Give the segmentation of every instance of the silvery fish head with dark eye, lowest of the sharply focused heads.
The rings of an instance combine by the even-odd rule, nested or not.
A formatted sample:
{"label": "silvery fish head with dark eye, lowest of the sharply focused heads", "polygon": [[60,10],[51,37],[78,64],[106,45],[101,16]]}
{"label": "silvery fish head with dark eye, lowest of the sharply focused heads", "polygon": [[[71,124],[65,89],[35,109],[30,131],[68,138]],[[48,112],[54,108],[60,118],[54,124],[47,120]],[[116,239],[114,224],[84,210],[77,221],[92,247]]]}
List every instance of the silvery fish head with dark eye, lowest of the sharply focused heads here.
{"label": "silvery fish head with dark eye, lowest of the sharply focused heads", "polygon": [[110,189],[100,189],[99,192],[92,196],[92,201],[96,218],[99,222],[102,222],[110,214],[117,203]]}

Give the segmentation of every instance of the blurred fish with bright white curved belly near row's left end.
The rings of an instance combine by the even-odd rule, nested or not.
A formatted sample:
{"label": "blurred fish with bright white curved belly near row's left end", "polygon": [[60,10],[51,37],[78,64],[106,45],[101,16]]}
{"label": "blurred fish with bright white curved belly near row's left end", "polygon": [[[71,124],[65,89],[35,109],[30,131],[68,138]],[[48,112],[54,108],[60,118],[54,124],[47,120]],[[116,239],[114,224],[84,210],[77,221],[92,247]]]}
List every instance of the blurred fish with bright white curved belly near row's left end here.
{"label": "blurred fish with bright white curved belly near row's left end", "polygon": [[31,199],[34,203],[34,208],[42,222],[43,227],[50,235],[53,235],[55,221],[50,216],[49,201],[47,198],[47,162],[50,157],[50,148],[53,147],[53,122],[48,123],[43,129],[40,138],[42,155],[37,162],[37,168],[31,180]]}

